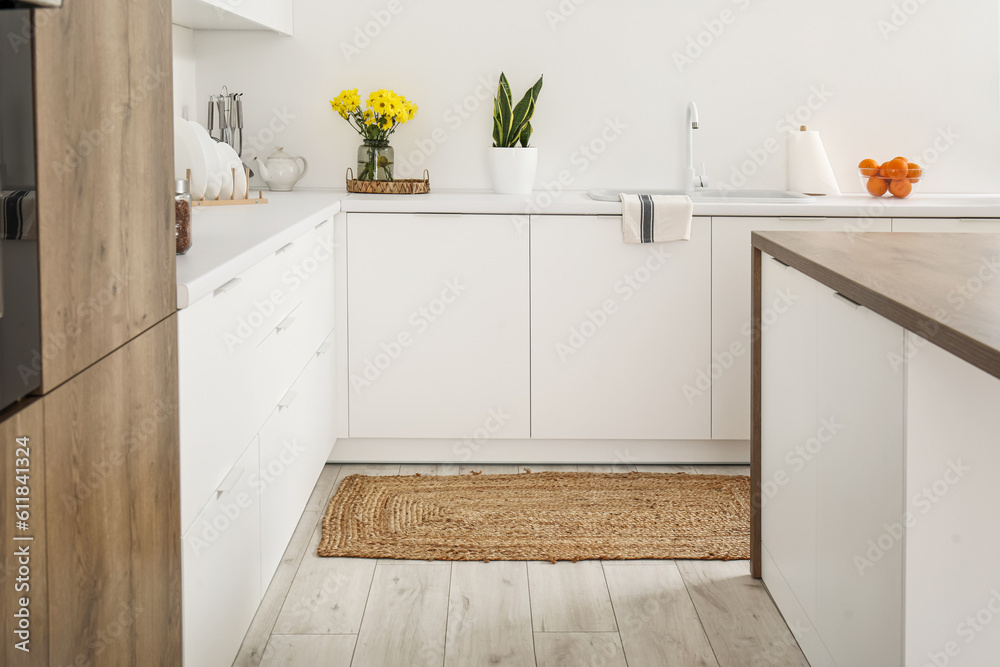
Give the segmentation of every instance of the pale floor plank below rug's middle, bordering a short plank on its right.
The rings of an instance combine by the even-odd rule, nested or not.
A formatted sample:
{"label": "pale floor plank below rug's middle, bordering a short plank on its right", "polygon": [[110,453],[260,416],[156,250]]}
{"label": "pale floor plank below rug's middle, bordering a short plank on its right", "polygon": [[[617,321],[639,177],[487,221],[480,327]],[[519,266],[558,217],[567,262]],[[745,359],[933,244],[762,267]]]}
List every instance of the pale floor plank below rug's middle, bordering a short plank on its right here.
{"label": "pale floor plank below rug's middle, bordering a short plank on its right", "polygon": [[534,666],[524,562],[452,563],[445,667]]}

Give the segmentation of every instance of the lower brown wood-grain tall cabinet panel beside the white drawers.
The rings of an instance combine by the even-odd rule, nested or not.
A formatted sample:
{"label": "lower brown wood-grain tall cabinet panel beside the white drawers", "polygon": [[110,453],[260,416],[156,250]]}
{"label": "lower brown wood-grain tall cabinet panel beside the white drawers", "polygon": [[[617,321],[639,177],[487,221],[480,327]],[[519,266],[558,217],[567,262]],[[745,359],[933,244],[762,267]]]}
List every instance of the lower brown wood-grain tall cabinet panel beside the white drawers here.
{"label": "lower brown wood-grain tall cabinet panel beside the white drawers", "polygon": [[51,664],[181,662],[176,326],[43,399]]}

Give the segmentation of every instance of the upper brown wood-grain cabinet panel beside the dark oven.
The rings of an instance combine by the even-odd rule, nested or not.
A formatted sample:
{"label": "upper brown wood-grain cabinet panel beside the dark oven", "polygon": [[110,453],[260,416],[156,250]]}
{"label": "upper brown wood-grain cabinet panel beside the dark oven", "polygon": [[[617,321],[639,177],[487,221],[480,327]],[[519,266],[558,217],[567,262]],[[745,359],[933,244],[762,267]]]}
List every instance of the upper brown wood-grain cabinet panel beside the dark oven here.
{"label": "upper brown wood-grain cabinet panel beside the dark oven", "polygon": [[174,312],[169,0],[36,21],[42,391]]}

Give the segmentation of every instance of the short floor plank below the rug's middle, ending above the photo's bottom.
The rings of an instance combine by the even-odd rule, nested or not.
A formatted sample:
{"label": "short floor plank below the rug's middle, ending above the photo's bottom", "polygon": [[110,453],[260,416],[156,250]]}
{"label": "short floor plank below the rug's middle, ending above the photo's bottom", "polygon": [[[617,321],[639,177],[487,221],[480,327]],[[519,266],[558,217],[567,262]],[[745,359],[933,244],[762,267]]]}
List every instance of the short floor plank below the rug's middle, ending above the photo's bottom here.
{"label": "short floor plank below the rug's middle, ending above the photo's bottom", "polygon": [[528,563],[535,632],[616,632],[601,561]]}

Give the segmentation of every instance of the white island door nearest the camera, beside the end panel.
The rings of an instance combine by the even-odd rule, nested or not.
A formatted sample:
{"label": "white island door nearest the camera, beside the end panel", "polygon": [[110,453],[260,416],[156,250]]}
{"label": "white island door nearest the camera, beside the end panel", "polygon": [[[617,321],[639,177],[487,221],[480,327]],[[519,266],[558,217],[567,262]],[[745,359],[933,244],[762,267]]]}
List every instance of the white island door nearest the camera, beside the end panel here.
{"label": "white island door nearest the camera, beside the end panel", "polygon": [[901,665],[903,330],[820,285],[817,331],[817,627],[839,665]]}

